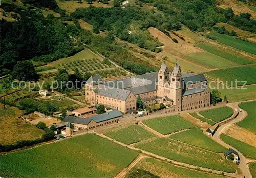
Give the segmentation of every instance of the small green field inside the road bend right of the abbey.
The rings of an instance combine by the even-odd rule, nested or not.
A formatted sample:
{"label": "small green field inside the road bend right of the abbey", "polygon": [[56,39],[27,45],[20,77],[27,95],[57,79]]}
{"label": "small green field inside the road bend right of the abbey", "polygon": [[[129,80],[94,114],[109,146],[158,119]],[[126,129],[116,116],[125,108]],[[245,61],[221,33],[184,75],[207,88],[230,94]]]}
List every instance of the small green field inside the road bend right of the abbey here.
{"label": "small green field inside the road bend right of the abbey", "polygon": [[233,109],[230,107],[219,107],[215,109],[203,110],[199,112],[199,114],[205,118],[211,119],[212,121],[220,122],[231,117],[233,114]]}

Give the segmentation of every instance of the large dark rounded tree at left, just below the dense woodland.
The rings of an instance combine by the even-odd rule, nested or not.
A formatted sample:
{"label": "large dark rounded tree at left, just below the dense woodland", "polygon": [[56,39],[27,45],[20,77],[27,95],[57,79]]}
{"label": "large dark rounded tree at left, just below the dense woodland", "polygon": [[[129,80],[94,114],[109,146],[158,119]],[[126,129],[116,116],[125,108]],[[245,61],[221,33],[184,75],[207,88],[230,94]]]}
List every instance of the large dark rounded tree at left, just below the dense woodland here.
{"label": "large dark rounded tree at left, just below the dense woodland", "polygon": [[38,79],[38,75],[35,73],[34,66],[31,61],[19,61],[14,65],[11,73],[13,78],[20,81],[33,81]]}

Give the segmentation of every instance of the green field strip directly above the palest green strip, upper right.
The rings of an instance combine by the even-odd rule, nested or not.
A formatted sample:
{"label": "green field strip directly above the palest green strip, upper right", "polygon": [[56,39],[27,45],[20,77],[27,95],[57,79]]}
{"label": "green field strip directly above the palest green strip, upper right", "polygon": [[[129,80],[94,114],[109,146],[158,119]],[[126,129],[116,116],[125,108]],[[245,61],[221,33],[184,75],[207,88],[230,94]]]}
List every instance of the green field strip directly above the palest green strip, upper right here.
{"label": "green field strip directly above the palest green strip, upper right", "polygon": [[[220,48],[215,44],[210,44],[210,43],[199,43],[196,45],[197,47],[215,54],[217,56],[220,56],[222,58],[225,58],[227,60],[239,63],[239,64],[249,64],[249,63],[255,63],[256,60],[252,60],[251,58],[248,58],[246,56],[243,56],[241,53],[234,52],[228,49]],[[224,66],[221,66],[221,68],[224,68]]]}

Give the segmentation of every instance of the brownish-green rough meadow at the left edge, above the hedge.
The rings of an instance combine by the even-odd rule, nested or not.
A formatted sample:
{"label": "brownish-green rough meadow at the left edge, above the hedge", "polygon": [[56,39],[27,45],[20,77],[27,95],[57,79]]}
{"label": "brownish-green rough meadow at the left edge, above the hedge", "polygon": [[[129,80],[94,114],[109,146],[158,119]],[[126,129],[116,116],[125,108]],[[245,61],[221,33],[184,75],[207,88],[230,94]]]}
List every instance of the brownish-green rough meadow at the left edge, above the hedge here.
{"label": "brownish-green rough meadow at the left edge, above the hedge", "polygon": [[[6,107],[7,109],[4,110],[4,105],[0,104],[1,145],[14,144],[22,140],[35,140],[42,136],[43,130],[18,119],[19,116],[23,115],[22,110],[8,105]],[[19,125],[16,125],[16,123],[19,123]]]}

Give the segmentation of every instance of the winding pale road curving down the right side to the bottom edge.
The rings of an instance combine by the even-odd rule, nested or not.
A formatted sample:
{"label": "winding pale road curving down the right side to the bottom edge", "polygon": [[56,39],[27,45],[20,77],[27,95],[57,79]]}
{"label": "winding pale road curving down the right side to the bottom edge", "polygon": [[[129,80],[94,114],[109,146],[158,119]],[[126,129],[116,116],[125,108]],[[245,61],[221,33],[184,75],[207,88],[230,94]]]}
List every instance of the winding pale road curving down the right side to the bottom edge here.
{"label": "winding pale road curving down the right side to the bottom edge", "polygon": [[[228,106],[232,107],[233,109],[238,109],[238,104],[237,103],[229,103]],[[244,157],[244,155],[237,150],[236,148],[226,144],[225,142],[223,142],[220,139],[220,135],[221,133],[223,133],[228,127],[231,126],[231,124],[237,123],[242,121],[245,117],[247,116],[247,113],[243,110],[242,112],[239,112],[239,115],[236,119],[221,125],[218,130],[216,131],[215,135],[212,137],[216,142],[218,142],[219,144],[221,144],[222,146],[226,147],[226,148],[232,148],[233,150],[236,150],[239,154],[240,157],[240,164],[239,164],[239,168],[241,169],[243,175],[245,177],[252,177],[249,171],[249,168],[246,165],[246,158]]]}

